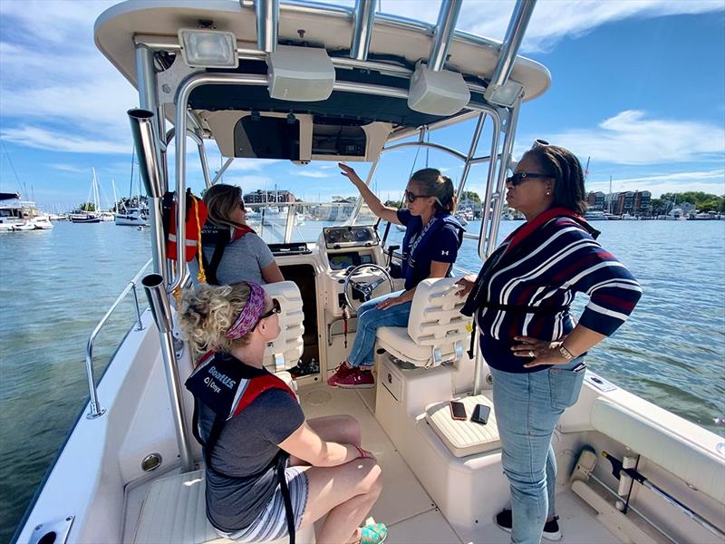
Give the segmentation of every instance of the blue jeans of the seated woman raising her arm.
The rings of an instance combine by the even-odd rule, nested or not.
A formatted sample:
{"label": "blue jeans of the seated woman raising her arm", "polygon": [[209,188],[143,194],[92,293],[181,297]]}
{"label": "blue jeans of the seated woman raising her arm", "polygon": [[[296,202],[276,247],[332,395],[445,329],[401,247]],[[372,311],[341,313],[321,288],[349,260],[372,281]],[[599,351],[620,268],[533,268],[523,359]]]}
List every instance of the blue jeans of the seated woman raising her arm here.
{"label": "blue jeans of the seated woman raising her arm", "polygon": [[405,302],[380,310],[378,306],[386,298],[399,296],[402,291],[389,293],[368,300],[357,309],[357,333],[353,349],[347,357],[352,366],[372,366],[374,364],[375,336],[381,326],[408,326],[411,316],[411,302]]}

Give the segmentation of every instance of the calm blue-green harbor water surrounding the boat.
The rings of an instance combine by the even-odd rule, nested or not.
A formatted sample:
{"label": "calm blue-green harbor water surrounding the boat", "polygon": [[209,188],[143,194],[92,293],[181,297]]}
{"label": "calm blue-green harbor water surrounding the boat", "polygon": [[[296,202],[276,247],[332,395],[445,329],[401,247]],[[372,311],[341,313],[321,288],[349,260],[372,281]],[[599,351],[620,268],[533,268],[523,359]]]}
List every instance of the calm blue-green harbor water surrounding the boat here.
{"label": "calm blue-green harbor water surrounding the boat", "polygon": [[[478,222],[468,231],[478,233]],[[520,223],[503,221],[505,236]],[[725,415],[725,222],[598,221],[602,245],[632,270],[643,298],[588,364],[614,383],[713,432]],[[311,222],[297,238],[314,238]],[[402,233],[391,229],[391,239]],[[113,223],[56,223],[0,234],[0,541],[12,535],[87,402],[85,343],[150,257],[150,235]],[[460,267],[478,271],[476,242]],[[145,296],[140,293],[145,303]],[[577,313],[585,299],[577,301]],[[96,348],[97,375],[133,324],[131,300]]]}

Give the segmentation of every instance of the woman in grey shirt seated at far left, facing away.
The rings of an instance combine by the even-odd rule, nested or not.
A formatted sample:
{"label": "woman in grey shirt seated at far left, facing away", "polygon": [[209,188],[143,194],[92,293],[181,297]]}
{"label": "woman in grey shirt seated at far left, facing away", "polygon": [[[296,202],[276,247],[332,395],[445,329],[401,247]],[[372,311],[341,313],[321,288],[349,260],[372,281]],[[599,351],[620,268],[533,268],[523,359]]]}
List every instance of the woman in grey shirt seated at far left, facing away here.
{"label": "woman in grey shirt seated at far left, facing away", "polygon": [[[201,229],[201,246],[207,283],[285,281],[266,242],[247,226],[247,209],[240,187],[214,185],[204,193],[204,204],[208,217]],[[192,280],[196,281],[197,259],[189,263],[189,270]]]}

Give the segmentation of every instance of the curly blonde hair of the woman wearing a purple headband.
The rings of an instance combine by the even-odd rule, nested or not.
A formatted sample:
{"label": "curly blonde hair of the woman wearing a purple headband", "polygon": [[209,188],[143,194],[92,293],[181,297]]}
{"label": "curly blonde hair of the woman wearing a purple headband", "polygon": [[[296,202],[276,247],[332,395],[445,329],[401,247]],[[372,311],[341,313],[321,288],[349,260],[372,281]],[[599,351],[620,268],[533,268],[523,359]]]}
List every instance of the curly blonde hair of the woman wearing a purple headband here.
{"label": "curly blonde hair of the woman wearing a purple headband", "polygon": [[230,286],[199,284],[184,292],[179,313],[179,328],[189,342],[195,361],[211,350],[231,352],[249,344],[251,333],[236,340],[226,333],[241,313],[251,293],[247,282]]}

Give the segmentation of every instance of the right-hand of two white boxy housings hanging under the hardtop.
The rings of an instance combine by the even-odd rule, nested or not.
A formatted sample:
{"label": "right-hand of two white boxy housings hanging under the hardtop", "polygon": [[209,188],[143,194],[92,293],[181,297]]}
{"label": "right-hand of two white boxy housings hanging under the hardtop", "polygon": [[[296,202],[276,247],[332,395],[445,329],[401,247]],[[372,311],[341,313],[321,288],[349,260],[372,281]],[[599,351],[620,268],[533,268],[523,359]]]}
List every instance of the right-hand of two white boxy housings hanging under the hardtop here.
{"label": "right-hand of two white boxy housings hanging under the hardtop", "polygon": [[423,63],[415,66],[408,92],[408,107],[430,115],[458,113],[470,101],[469,86],[457,72],[434,72]]}

